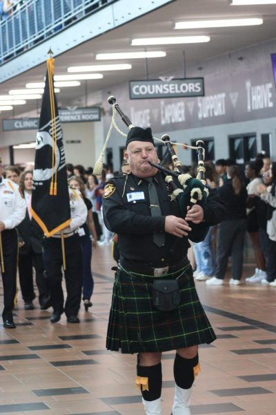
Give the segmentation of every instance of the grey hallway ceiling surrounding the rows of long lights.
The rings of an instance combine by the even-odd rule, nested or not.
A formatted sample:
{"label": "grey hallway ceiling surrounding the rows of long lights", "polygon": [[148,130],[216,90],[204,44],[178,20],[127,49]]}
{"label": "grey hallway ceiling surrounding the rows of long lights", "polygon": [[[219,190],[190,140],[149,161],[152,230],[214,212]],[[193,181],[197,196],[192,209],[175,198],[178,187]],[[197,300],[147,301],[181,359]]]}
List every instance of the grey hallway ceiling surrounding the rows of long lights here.
{"label": "grey hallway ceiling surrounding the rows of long lights", "polygon": [[[174,29],[175,21],[230,17],[262,17],[264,24],[233,28]],[[184,50],[186,65],[194,64],[202,68],[204,62],[208,59],[274,39],[276,37],[275,27],[276,5],[230,6],[228,0],[172,1],[167,6],[57,56],[55,61],[56,75],[68,73],[68,66],[111,63],[132,64],[131,70],[102,72],[103,79],[101,80],[81,81],[81,86],[61,89],[61,93],[57,95],[59,106],[63,108],[72,105],[85,107],[87,102],[86,93],[89,94],[88,104],[101,104],[99,98],[90,100],[90,95],[103,89],[111,89],[112,85],[128,80],[145,79],[144,59],[121,59],[113,62],[95,60],[96,53],[144,51],[144,46],[130,46],[133,38],[183,35],[210,36],[210,42],[202,44],[147,46],[147,50],[165,50],[167,53],[166,57],[148,59],[148,75],[156,78],[164,73],[175,76],[175,68],[178,68],[177,75],[179,75],[179,68],[183,65]],[[55,54],[55,46],[52,49]],[[7,82],[3,82],[0,84],[0,95],[7,95],[10,89],[23,89],[28,82],[42,82],[45,73],[46,66],[43,64]],[[187,73],[187,75],[189,74]],[[200,70],[198,75],[202,76]],[[95,96],[99,97],[99,95]],[[38,113],[40,105],[40,100],[30,100],[26,105],[14,107],[13,113],[12,111],[2,111],[0,118],[20,117],[21,113],[32,110]]]}

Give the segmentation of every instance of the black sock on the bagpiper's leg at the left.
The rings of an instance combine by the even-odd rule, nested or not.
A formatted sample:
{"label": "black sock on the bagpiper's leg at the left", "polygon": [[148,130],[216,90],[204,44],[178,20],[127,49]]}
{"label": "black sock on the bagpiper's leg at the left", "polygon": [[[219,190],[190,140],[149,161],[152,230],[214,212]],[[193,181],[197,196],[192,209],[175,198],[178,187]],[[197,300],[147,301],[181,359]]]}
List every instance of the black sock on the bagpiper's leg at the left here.
{"label": "black sock on the bagpiper's leg at the left", "polygon": [[137,376],[148,378],[148,391],[143,390],[141,385],[141,393],[144,400],[156,400],[161,396],[162,387],[162,368],[161,363],[155,366],[137,365]]}

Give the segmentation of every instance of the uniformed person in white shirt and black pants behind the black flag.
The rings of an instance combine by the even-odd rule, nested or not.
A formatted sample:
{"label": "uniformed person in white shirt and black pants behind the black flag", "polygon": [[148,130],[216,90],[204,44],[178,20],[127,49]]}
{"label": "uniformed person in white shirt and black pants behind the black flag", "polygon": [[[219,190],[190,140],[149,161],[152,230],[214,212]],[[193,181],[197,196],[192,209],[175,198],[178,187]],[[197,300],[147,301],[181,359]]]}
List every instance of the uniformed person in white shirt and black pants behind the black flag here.
{"label": "uniformed person in white shirt and black pants behind the black flag", "polygon": [[77,314],[81,304],[82,254],[78,228],[86,222],[87,208],[79,190],[69,187],[69,198],[72,221],[70,226],[63,229],[66,261],[64,277],[67,290],[65,306],[63,306],[64,297],[61,286],[61,266],[63,264],[61,232],[59,231],[52,237],[43,239],[43,262],[53,308],[53,313],[50,317],[50,322],[52,323],[60,320],[63,311],[65,311],[69,323],[79,323]]}

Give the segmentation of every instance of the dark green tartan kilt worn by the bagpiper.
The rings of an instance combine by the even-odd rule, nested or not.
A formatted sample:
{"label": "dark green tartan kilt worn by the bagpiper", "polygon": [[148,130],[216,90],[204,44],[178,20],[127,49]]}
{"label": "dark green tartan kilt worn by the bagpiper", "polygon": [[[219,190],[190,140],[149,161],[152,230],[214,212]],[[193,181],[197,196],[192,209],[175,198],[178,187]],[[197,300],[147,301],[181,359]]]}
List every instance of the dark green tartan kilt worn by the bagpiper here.
{"label": "dark green tartan kilt worn by the bagpiper", "polygon": [[179,277],[181,302],[171,311],[159,311],[152,304],[152,282],[157,277],[118,269],[108,322],[108,350],[169,351],[216,339],[197,296],[190,264],[164,277]]}

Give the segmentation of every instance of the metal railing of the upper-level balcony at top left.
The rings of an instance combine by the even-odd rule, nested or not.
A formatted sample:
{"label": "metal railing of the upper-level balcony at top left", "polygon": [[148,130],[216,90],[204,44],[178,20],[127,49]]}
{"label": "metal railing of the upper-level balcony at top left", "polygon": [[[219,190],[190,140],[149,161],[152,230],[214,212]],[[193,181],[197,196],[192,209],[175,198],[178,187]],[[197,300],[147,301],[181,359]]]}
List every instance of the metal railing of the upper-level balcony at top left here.
{"label": "metal railing of the upper-level balcony at top left", "polygon": [[118,0],[23,0],[0,20],[0,65]]}

